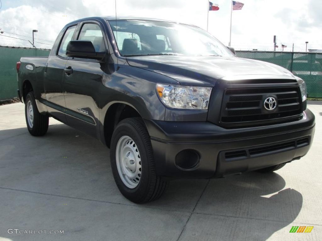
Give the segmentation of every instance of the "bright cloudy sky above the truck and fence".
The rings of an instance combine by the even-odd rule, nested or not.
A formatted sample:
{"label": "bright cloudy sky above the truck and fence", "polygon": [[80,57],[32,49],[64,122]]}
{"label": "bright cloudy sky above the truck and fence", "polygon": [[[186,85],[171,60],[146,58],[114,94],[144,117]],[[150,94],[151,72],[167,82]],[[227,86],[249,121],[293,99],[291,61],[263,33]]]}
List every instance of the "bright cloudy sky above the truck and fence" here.
{"label": "bright cloudy sky above the truck and fence", "polygon": [[[115,0],[0,0],[0,45],[51,48],[65,24],[89,16],[115,16]],[[208,12],[207,0],[116,0],[118,16],[165,19],[207,29],[228,46],[231,1],[213,0],[218,11]],[[273,36],[284,51],[322,49],[321,0],[240,0],[242,10],[232,12],[232,47],[273,50]],[[207,14],[209,13],[209,14]],[[5,37],[9,36],[9,37]],[[18,40],[20,38],[24,40]]]}

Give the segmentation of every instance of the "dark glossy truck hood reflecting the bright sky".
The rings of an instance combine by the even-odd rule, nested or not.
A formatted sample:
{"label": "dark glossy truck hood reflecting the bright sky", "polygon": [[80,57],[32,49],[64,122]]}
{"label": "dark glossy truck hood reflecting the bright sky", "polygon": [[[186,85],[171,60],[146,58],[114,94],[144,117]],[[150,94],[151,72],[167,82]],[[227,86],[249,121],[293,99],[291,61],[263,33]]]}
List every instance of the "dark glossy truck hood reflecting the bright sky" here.
{"label": "dark glossy truck hood reflecting the bright sky", "polygon": [[182,85],[213,86],[218,79],[294,79],[278,65],[237,57],[151,55],[127,57],[127,61],[130,66],[169,76]]}

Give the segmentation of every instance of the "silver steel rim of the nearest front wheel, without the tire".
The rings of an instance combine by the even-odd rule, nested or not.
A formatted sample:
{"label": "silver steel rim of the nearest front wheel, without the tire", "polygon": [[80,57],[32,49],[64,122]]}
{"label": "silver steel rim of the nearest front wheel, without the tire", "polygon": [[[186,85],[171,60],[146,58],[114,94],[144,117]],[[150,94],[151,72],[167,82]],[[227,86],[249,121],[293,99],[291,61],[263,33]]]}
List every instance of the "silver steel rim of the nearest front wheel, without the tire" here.
{"label": "silver steel rim of the nearest front wheel, without the tire", "polygon": [[122,136],[116,146],[116,166],[122,182],[136,188],[141,179],[141,157],[137,145],[129,136]]}

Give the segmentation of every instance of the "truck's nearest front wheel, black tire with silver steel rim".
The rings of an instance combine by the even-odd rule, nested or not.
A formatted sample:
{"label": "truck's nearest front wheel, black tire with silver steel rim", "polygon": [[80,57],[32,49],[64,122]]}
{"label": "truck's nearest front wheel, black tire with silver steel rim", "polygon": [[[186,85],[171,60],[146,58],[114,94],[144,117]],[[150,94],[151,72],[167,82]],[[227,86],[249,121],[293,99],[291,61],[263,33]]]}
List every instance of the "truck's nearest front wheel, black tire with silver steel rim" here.
{"label": "truck's nearest front wheel, black tire with silver steel rim", "polygon": [[156,174],[150,136],[140,118],[128,118],[115,128],[110,161],[119,191],[128,200],[145,203],[159,198],[166,182]]}

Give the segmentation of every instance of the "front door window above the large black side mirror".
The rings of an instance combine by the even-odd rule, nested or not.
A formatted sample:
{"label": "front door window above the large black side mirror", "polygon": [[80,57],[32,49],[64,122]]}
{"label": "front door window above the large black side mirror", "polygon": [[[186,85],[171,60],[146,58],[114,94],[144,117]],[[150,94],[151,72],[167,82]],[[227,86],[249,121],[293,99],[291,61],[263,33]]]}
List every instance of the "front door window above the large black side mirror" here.
{"label": "front door window above the large black side mirror", "polygon": [[106,52],[102,30],[95,23],[85,23],[81,28],[78,40],[91,41],[96,52]]}

